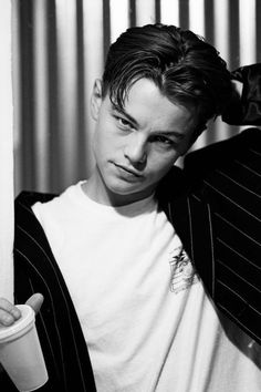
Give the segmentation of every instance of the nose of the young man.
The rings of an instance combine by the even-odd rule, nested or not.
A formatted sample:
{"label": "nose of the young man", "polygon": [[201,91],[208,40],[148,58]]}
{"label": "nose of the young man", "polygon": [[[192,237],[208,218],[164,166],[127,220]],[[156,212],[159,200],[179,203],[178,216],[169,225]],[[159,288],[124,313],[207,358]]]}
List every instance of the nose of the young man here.
{"label": "nose of the young man", "polygon": [[145,166],[147,162],[147,142],[143,135],[132,134],[125,145],[124,156],[134,166]]}

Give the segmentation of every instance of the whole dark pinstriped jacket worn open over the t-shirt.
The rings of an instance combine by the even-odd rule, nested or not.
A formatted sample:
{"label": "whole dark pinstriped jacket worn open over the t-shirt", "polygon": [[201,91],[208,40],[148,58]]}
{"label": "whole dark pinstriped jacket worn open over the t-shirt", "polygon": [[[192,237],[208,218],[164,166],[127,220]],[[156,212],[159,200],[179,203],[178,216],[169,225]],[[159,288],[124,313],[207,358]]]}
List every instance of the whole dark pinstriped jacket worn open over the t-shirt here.
{"label": "whole dark pinstriped jacket worn open over the t-shirt", "polygon": [[[249,71],[246,78],[252,76]],[[258,123],[261,116],[255,118],[257,110],[250,106],[242,116],[248,116],[249,123]],[[260,177],[261,133],[250,128],[189,154],[185,169],[174,168],[159,184],[157,194],[217,308],[259,344]],[[36,324],[50,381],[41,391],[95,391],[75,309],[44,231],[31,210],[36,200],[52,197],[22,193],[15,200],[15,301],[22,303],[33,292],[44,296]],[[6,389],[1,386],[1,391],[12,391],[9,383],[2,374],[0,386]]]}

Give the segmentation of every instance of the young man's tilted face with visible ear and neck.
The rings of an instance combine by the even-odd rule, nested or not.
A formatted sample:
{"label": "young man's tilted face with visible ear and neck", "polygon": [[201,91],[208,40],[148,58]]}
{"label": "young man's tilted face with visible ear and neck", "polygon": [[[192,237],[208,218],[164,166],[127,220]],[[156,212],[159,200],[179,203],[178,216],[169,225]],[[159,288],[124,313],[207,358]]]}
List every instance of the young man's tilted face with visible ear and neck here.
{"label": "young man's tilted face with visible ear and neck", "polygon": [[192,114],[168,101],[147,79],[133,84],[123,111],[108,94],[101,97],[97,81],[92,115],[96,167],[86,189],[96,202],[114,206],[149,196],[188,149],[194,130]]}

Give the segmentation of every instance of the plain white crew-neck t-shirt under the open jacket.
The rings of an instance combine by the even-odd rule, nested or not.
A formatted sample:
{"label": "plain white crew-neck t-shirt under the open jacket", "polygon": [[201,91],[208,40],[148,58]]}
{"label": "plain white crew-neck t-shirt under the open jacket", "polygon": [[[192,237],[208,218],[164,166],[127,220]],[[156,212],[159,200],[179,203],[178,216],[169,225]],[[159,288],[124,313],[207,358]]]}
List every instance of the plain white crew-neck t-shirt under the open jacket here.
{"label": "plain white crew-neck t-shirt under the open jacket", "polygon": [[226,337],[154,197],[115,208],[79,183],[33,210],[71,292],[97,391],[261,390],[258,365]]}

